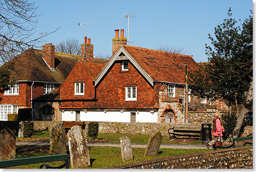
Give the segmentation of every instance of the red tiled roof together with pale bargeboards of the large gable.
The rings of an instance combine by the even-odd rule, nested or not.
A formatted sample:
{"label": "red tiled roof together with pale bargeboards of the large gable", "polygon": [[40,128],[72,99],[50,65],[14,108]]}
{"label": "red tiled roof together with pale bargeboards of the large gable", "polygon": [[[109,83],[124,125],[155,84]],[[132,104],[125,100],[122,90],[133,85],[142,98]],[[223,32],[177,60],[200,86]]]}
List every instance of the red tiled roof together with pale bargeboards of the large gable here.
{"label": "red tiled roof together with pale bargeboards of the large gable", "polygon": [[188,70],[198,69],[196,61],[190,55],[174,54],[141,47],[121,44],[117,52],[95,78],[95,85],[115,60],[130,60],[139,72],[149,81],[185,84],[185,64]]}

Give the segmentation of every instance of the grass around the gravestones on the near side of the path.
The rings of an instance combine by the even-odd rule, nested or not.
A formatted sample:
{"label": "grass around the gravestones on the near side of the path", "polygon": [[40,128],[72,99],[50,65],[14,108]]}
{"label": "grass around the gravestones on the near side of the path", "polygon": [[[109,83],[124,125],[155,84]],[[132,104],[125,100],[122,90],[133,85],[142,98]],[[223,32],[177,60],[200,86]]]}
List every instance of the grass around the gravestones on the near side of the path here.
{"label": "grass around the gravestones on the near side of the path", "polygon": [[[107,147],[107,146],[89,146],[89,155],[90,155],[90,163],[91,163],[91,167],[89,168],[96,169],[96,168],[112,167],[115,165],[124,165],[124,164],[130,164],[133,162],[153,160],[156,158],[168,157],[168,156],[191,154],[194,152],[202,152],[202,151],[209,151],[209,149],[160,149],[157,155],[144,157],[143,155],[145,152],[145,148],[132,148],[133,161],[123,162],[120,148]],[[36,156],[46,156],[46,155],[48,154],[23,152],[23,153],[17,153],[16,158],[36,157]],[[56,167],[56,166],[62,165],[63,163],[64,161],[58,161],[58,162],[47,162],[45,164]],[[20,165],[20,166],[10,167],[10,168],[32,169],[32,168],[39,168],[41,164],[43,163]]]}

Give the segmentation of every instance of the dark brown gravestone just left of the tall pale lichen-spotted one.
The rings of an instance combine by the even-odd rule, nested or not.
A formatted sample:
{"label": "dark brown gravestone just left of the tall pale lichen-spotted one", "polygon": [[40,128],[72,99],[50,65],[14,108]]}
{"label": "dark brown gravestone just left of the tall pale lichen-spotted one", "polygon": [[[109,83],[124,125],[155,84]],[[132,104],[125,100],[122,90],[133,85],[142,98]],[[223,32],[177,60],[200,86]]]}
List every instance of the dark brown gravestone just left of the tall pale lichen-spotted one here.
{"label": "dark brown gravestone just left of the tall pale lichen-spotted one", "polygon": [[66,132],[63,126],[54,125],[50,130],[49,155],[66,154]]}

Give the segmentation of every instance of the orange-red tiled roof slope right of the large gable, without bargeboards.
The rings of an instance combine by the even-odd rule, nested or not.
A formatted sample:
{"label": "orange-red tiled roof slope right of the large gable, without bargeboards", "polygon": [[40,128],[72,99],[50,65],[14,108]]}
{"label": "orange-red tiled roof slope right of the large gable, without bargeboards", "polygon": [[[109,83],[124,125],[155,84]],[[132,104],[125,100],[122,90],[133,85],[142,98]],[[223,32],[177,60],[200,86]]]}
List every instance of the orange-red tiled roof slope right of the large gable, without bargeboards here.
{"label": "orange-red tiled roof slope right of the large gable, without bargeboards", "polygon": [[188,71],[198,69],[190,55],[173,54],[123,44],[125,50],[137,61],[154,81],[185,84],[185,64]]}

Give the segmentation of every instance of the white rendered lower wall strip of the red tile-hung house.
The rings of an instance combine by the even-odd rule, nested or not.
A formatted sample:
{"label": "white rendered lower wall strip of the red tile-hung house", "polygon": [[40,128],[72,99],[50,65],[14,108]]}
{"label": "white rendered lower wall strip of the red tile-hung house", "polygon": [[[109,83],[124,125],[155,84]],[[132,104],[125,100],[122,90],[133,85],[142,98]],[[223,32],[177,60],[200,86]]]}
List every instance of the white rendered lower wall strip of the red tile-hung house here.
{"label": "white rendered lower wall strip of the red tile-hung house", "polygon": [[[76,113],[71,111],[62,112],[62,120],[76,120]],[[97,122],[131,122],[131,112],[120,111],[80,111],[81,121],[97,121]],[[136,122],[138,123],[157,123],[157,112],[136,112]]]}

